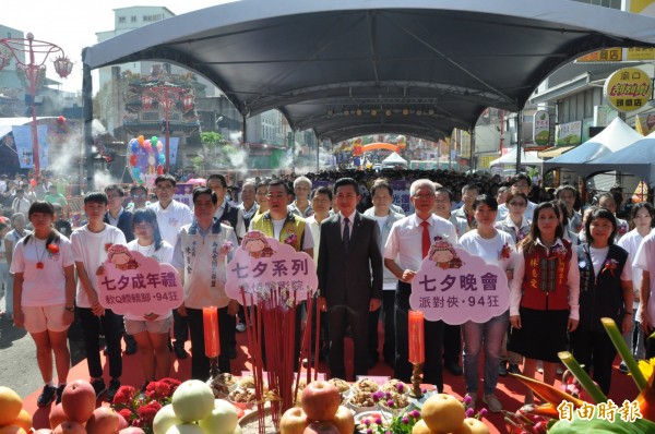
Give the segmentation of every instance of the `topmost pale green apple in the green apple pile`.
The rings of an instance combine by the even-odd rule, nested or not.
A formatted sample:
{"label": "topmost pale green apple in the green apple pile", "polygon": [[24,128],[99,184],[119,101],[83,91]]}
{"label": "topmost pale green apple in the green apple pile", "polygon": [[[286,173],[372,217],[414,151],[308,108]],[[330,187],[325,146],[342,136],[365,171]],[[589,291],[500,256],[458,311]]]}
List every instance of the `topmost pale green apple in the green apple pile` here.
{"label": "topmost pale green apple in the green apple pile", "polygon": [[206,383],[189,379],[175,390],[171,403],[179,420],[195,422],[204,419],[214,409],[214,393]]}

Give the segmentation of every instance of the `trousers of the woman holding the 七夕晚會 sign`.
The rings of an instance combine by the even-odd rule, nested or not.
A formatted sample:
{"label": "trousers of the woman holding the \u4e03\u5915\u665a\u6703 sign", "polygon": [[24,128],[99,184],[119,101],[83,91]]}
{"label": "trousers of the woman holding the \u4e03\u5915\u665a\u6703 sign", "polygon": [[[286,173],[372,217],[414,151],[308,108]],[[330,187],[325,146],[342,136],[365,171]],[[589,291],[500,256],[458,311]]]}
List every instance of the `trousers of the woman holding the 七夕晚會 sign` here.
{"label": "trousers of the woman holding the \u4e03\u5915\u665a\u6703 sign", "polygon": [[483,346],[485,346],[485,395],[491,395],[496,390],[502,338],[508,328],[509,315],[508,311],[483,324],[472,321],[462,324],[466,393],[477,393],[479,382],[478,360]]}

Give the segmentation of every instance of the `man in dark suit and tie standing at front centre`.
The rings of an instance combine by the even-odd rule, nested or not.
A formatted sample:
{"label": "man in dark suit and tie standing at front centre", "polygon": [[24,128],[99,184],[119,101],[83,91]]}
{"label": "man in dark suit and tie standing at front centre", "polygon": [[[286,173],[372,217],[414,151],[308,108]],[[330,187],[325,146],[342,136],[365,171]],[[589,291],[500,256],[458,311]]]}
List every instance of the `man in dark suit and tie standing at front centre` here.
{"label": "man in dark suit and tie standing at front centre", "polygon": [[383,267],[378,224],[356,209],[361,200],[357,181],[337,180],[334,196],[340,213],[321,224],[319,306],[327,312],[331,375],[345,378],[348,324],[355,343],[355,375],[368,372],[368,317],[382,302]]}

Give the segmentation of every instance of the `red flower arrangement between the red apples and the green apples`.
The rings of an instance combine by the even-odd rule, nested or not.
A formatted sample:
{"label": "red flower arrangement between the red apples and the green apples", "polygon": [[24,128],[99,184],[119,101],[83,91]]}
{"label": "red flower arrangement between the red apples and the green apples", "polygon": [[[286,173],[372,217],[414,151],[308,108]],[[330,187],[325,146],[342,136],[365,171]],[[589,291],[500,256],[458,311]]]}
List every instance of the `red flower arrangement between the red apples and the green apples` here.
{"label": "red flower arrangement between the red apples and the green apples", "polygon": [[130,426],[138,426],[153,434],[153,420],[162,407],[170,402],[172,393],[181,383],[175,378],[150,382],[144,391],[132,386],[120,386],[111,408],[124,418]]}

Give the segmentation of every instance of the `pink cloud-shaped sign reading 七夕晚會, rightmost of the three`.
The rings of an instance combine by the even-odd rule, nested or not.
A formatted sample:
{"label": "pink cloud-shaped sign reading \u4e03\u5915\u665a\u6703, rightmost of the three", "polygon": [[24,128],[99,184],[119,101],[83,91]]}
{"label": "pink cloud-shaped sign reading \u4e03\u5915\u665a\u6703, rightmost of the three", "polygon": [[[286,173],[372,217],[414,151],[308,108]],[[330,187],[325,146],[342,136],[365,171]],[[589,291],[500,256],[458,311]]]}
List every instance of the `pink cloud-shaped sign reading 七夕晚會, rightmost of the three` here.
{"label": "pink cloud-shaped sign reading \u4e03\u5915\u665a\u6703, rightmost of the three", "polygon": [[428,321],[486,323],[510,306],[508,278],[499,266],[438,240],[412,280],[409,305]]}

